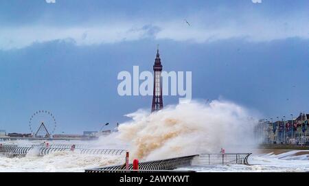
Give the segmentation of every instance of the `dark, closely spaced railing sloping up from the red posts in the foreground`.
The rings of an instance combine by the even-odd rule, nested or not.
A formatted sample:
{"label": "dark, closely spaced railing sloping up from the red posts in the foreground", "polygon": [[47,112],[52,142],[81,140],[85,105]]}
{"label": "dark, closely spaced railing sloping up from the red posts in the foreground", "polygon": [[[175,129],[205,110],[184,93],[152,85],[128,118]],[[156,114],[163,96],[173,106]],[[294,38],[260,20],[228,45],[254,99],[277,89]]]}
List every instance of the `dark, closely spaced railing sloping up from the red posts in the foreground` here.
{"label": "dark, closely spaced railing sloping up from the red posts in the foreground", "polygon": [[[139,172],[151,172],[152,170],[174,170],[178,167],[191,165],[194,156],[182,156],[172,159],[162,159],[157,161],[144,161],[139,163]],[[85,170],[85,172],[130,172],[133,164],[129,164],[128,170],[125,165],[114,165]]]}

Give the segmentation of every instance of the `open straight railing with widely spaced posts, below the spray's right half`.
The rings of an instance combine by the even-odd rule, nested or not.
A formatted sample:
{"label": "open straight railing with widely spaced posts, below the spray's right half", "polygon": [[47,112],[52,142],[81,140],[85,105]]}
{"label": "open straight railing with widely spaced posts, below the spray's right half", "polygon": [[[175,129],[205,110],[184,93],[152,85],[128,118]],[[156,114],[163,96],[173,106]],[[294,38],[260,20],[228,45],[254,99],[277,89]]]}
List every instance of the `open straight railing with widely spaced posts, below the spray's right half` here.
{"label": "open straight railing with widely spaced posts, below the spray's right half", "polygon": [[244,164],[249,165],[248,158],[251,153],[226,153],[226,154],[200,154],[198,165],[228,165]]}

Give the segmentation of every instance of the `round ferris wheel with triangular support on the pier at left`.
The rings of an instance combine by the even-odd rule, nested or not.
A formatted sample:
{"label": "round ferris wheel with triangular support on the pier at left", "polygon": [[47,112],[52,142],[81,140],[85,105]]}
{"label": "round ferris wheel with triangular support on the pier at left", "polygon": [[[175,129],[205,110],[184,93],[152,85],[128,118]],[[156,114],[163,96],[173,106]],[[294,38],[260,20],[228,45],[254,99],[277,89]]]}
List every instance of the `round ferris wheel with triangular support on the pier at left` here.
{"label": "round ferris wheel with triangular support on the pier at left", "polygon": [[34,137],[52,137],[56,130],[57,122],[50,111],[36,111],[29,119],[30,132]]}

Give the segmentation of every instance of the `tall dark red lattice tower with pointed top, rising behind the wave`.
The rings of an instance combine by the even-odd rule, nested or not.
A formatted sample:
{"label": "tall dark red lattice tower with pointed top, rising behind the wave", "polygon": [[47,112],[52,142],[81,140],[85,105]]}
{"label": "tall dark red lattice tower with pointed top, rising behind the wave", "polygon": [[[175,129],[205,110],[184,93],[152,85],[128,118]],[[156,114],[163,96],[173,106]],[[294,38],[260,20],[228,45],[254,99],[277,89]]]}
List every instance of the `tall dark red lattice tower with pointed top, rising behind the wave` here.
{"label": "tall dark red lattice tower with pointed top, rising behind the wave", "polygon": [[153,84],[153,96],[151,112],[159,111],[163,108],[162,100],[162,80],[161,80],[161,59],[159,55],[159,47],[157,49],[157,58],[155,59],[155,65],[153,65],[153,71],[155,72],[154,84]]}

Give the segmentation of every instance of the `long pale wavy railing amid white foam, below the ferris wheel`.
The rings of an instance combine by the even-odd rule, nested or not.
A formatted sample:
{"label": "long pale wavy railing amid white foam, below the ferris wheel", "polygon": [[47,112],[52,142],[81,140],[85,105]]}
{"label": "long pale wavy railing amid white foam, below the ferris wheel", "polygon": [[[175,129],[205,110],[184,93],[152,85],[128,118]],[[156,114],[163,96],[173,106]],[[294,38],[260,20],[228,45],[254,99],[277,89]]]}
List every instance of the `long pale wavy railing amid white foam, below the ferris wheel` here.
{"label": "long pale wavy railing amid white foam, below the ferris wheel", "polygon": [[32,150],[36,152],[38,155],[46,155],[52,152],[69,152],[73,151],[79,154],[112,154],[112,155],[122,155],[126,152],[123,149],[94,149],[94,148],[82,148],[83,146],[77,146],[72,148],[69,145],[54,145],[49,147],[42,146],[16,146],[16,145],[1,145],[0,153],[8,154],[8,155],[25,155],[30,153]]}

